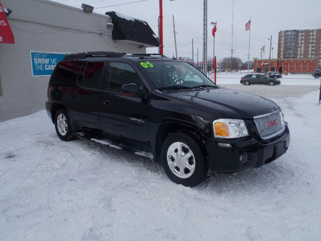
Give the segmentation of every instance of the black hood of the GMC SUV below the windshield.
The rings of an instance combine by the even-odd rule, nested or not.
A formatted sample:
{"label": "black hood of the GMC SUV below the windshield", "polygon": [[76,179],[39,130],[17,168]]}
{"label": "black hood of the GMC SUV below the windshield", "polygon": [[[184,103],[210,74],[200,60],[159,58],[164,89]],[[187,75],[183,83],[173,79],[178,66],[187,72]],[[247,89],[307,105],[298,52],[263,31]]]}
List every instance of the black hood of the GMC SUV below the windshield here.
{"label": "black hood of the GMC SUV below the windshield", "polygon": [[273,101],[261,96],[229,88],[199,88],[166,91],[166,94],[199,105],[199,109],[213,113],[214,118],[247,118],[280,109]]}

